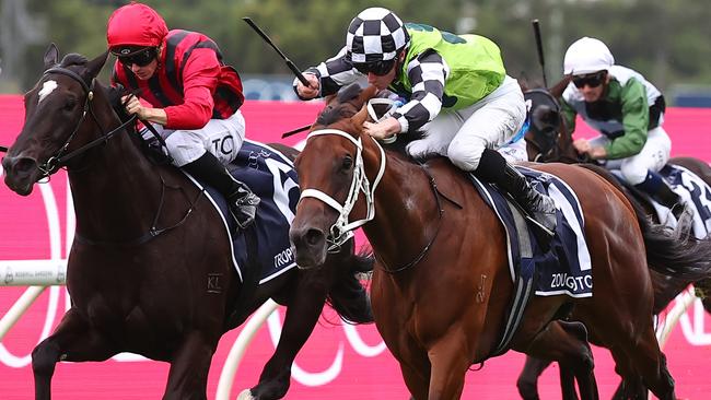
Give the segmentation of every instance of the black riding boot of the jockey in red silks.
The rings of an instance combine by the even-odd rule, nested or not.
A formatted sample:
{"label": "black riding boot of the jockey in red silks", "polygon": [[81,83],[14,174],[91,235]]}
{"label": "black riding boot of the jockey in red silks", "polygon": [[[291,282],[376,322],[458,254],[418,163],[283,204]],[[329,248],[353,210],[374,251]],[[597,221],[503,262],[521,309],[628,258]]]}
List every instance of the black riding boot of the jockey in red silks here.
{"label": "black riding boot of the jockey in red silks", "polygon": [[259,205],[259,197],[247,185],[230,175],[228,168],[212,153],[206,152],[198,160],[183,168],[196,178],[218,189],[228,200],[230,212],[241,228],[254,222]]}

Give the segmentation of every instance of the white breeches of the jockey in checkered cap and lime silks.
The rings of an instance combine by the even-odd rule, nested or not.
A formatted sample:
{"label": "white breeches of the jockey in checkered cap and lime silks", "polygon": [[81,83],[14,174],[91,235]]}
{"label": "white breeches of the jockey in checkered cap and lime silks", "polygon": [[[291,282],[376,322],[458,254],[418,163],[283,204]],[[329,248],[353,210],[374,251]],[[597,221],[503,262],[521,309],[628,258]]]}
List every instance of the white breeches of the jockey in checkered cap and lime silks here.
{"label": "white breeches of the jockey in checkered cap and lime silks", "polygon": [[412,156],[438,153],[464,170],[479,166],[486,148],[499,150],[509,161],[525,161],[525,141],[509,144],[525,119],[526,105],[518,82],[506,77],[501,86],[476,104],[442,110],[422,127],[426,138],[409,143],[407,152]]}

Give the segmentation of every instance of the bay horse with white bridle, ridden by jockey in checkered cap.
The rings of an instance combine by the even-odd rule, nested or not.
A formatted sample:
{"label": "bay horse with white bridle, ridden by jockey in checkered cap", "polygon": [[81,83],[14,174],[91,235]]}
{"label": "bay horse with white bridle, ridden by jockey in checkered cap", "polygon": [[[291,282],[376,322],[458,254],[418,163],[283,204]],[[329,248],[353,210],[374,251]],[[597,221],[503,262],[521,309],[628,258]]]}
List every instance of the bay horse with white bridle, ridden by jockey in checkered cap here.
{"label": "bay horse with white bridle, ridden by jockey in checkered cap", "polygon": [[[504,228],[447,160],[418,163],[405,154],[401,140],[412,133],[385,146],[363,133],[363,105],[376,92],[342,91],[316,119],[295,162],[303,191],[290,237],[299,264],[317,266],[362,226],[375,255],[375,323],[407,388],[418,400],[456,399],[469,367],[493,355],[505,323],[514,285]],[[674,399],[654,336],[649,268],[707,273],[709,243],[680,240],[650,224],[591,170],[532,167],[558,176],[580,199],[594,294],[532,297],[510,349],[552,356],[573,372],[582,398],[596,399],[584,329],[557,318],[573,304],[613,349],[622,375],[641,374],[657,397]]]}

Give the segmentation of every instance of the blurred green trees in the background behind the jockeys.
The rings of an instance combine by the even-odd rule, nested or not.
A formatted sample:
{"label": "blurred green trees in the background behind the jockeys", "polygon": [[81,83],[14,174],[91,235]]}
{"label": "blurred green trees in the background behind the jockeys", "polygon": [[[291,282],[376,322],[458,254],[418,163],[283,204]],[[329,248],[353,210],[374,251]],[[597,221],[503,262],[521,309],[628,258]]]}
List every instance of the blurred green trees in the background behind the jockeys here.
{"label": "blurred green trees in the background behind the jockeys", "polygon": [[[0,0],[0,93],[37,81],[50,42],[60,52],[95,57],[117,0]],[[199,31],[242,74],[252,99],[294,99],[283,61],[241,20],[250,16],[296,66],[335,55],[350,20],[373,5],[457,34],[493,39],[510,75],[543,82],[531,21],[541,24],[549,84],[562,75],[566,48],[582,36],[605,42],[617,63],[644,74],[673,106],[711,107],[711,7],[708,0],[148,0],[170,28]],[[105,69],[108,70],[108,69]],[[108,81],[104,71],[102,78]]]}

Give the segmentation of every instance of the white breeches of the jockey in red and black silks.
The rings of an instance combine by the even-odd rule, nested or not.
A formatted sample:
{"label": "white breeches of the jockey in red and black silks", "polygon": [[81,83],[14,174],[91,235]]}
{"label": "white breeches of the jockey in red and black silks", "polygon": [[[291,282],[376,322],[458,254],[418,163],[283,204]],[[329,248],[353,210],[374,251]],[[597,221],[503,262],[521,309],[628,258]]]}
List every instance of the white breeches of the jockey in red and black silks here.
{"label": "white breeches of the jockey in red and black silks", "polygon": [[[206,151],[214,154],[220,162],[229,164],[242,148],[245,138],[245,121],[237,110],[228,119],[210,119],[200,129],[172,130],[153,123],[153,127],[165,140],[167,151],[176,166],[183,166],[198,160]],[[150,132],[142,132],[150,139]]]}

